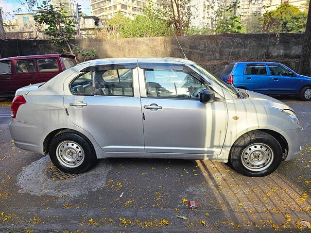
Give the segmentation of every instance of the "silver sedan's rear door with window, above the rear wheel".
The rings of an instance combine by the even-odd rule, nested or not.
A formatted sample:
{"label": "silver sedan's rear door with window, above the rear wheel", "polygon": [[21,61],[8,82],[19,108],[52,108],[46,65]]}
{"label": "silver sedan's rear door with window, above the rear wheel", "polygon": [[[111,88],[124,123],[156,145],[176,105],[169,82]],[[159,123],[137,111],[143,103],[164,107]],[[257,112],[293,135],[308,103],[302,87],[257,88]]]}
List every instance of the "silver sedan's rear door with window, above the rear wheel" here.
{"label": "silver sedan's rear door with window, above the rear wheel", "polygon": [[105,152],[143,152],[136,63],[87,67],[64,83],[64,89],[70,121],[90,133]]}

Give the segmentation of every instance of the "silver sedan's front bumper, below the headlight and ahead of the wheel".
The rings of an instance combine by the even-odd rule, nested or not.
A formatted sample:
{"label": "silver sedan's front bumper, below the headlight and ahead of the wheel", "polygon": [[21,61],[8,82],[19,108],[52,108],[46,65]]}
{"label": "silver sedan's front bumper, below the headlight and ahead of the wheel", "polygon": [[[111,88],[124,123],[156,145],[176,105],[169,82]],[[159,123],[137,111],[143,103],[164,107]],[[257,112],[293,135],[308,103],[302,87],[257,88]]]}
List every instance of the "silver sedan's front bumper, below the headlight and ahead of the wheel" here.
{"label": "silver sedan's front bumper, below the headlight and ahead of the wheel", "polygon": [[303,129],[284,130],[280,132],[288,143],[288,154],[285,161],[294,159],[301,153],[301,142],[303,140]]}

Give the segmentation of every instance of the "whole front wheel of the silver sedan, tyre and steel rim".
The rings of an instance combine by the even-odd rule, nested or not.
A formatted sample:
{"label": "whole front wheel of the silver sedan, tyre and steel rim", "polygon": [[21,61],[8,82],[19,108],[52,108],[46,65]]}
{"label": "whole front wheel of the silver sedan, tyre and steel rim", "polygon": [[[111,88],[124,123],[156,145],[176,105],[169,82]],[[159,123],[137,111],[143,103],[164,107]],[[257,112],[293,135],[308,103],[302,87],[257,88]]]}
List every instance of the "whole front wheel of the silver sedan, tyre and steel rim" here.
{"label": "whole front wheel of the silver sedan, tyre and steel rim", "polygon": [[[263,149],[259,149],[258,146]],[[257,147],[258,149],[256,149]],[[251,149],[253,150],[253,152],[249,152],[246,149],[248,150]],[[264,151],[264,149],[268,150]],[[271,152],[269,153],[269,151],[272,151],[272,153]],[[257,167],[258,164],[253,166],[253,164],[255,163],[252,163],[252,161],[254,162],[254,160],[250,159],[251,156],[253,157],[259,156],[260,160],[259,162],[262,162],[262,164],[259,167]],[[260,157],[262,158],[260,159]],[[245,160],[242,162],[243,159]],[[276,140],[276,138],[271,136],[270,134],[261,131],[252,131],[243,134],[233,144],[230,150],[229,160],[230,160],[229,163],[232,165],[232,167],[237,172],[245,176],[252,176],[252,177],[267,176],[271,174],[273,171],[275,171],[276,168],[280,165],[282,161],[282,148],[279,142]],[[248,163],[248,165],[246,163]],[[249,168],[247,166],[249,166]]]}

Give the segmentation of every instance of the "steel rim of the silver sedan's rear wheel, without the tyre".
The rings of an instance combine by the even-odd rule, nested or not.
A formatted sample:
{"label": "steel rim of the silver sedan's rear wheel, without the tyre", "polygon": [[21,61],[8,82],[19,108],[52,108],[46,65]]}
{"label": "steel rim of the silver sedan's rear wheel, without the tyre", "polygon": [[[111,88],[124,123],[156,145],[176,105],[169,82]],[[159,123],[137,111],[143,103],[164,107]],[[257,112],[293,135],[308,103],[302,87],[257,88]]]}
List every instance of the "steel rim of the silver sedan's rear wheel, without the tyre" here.
{"label": "steel rim of the silver sedan's rear wheel, without the tyre", "polygon": [[74,141],[64,141],[58,144],[56,157],[63,166],[77,167],[84,161],[83,148]]}

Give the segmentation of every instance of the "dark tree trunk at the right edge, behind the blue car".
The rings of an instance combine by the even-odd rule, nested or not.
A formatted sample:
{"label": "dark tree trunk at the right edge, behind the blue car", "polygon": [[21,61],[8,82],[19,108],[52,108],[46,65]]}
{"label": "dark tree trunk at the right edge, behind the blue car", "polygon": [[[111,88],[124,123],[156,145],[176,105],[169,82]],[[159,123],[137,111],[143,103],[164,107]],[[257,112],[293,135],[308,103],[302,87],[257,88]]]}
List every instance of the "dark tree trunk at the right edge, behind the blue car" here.
{"label": "dark tree trunk at the right edge, behind the blue car", "polygon": [[311,2],[309,2],[308,19],[299,62],[299,73],[309,76],[311,73]]}

